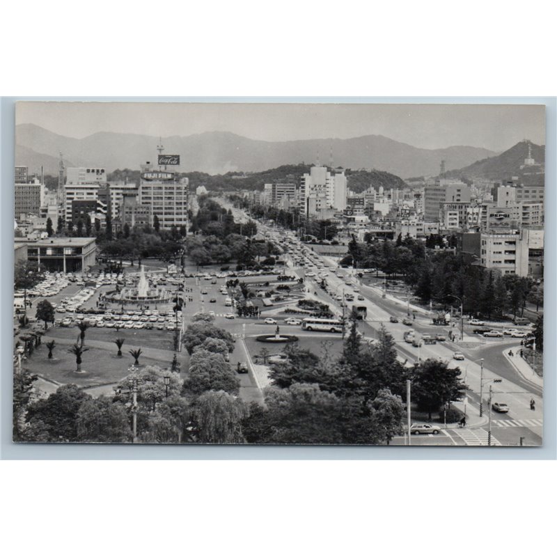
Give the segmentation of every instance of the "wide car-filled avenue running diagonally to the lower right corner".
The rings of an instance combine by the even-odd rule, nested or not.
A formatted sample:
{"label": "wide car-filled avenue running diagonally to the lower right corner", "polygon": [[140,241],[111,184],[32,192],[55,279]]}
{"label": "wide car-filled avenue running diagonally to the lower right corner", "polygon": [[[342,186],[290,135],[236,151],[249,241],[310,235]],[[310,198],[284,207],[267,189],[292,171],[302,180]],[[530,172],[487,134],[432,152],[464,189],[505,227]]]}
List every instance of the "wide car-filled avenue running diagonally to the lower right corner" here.
{"label": "wide car-filled avenue running diagonally to the lower right corner", "polygon": [[[238,212],[239,210],[235,211]],[[258,227],[263,233],[269,233],[272,240],[276,242],[284,239],[283,233],[280,233],[278,230],[274,230],[261,223],[258,223]],[[308,285],[310,291],[315,292],[319,299],[335,308],[338,315],[342,315],[343,308],[340,302],[336,300],[336,295],[354,292],[352,287],[345,284],[347,278],[354,280],[352,272],[349,269],[340,269],[338,267],[333,269],[317,269],[312,266],[313,264],[311,261],[308,261],[308,258],[305,258],[304,267],[301,267],[295,263],[295,257],[292,256],[291,252],[285,258],[290,270],[297,274],[297,276],[305,278],[306,285]],[[317,260],[322,261],[322,258],[317,258]],[[328,290],[332,295],[319,288],[317,281],[320,281],[320,278],[307,276],[306,273],[310,269],[312,272],[327,271]],[[340,273],[342,276],[336,276],[337,273]],[[357,301],[357,295],[363,296],[364,300]],[[389,299],[389,297],[383,298],[382,293],[377,288],[359,285],[359,292],[354,292],[354,297],[355,305],[366,305],[368,307],[366,321],[360,325],[364,336],[377,338],[377,332],[380,327],[385,327],[395,339],[396,350],[402,359],[408,359],[411,363],[420,359],[441,359],[446,361],[450,368],[458,367],[462,370],[464,382],[469,387],[464,402],[467,405],[466,412],[476,420],[480,419],[481,393],[483,400],[481,427],[449,428],[442,432],[441,435],[425,436],[423,439],[427,438],[428,444],[487,444],[490,386],[492,387],[492,402],[506,402],[510,407],[508,414],[496,414],[495,412],[492,414],[492,444],[518,445],[521,442],[525,445],[541,444],[543,423],[542,389],[540,386],[524,379],[503,356],[503,351],[510,349],[510,347],[516,347],[519,340],[478,338],[478,336],[473,336],[472,327],[466,325],[464,328],[465,339],[467,338],[467,340],[473,342],[458,345],[457,343],[446,341],[435,345],[414,347],[405,343],[402,338],[402,335],[408,329],[412,328],[419,334],[437,334],[442,331],[446,335],[450,329],[432,325],[428,315],[418,312],[416,312],[416,317],[412,319],[412,326],[407,327],[401,322],[403,317],[407,317],[405,304],[396,303]],[[399,322],[389,322],[389,317],[391,316],[398,317]],[[293,327],[293,329],[296,329],[296,327]],[[283,330],[282,326],[281,330]],[[285,332],[290,331],[285,329]],[[462,352],[465,358],[464,361],[453,359],[455,352]],[[494,383],[495,379],[501,379],[502,381],[501,383]],[[535,410],[530,408],[530,400],[533,397],[536,400]],[[418,443],[427,443],[427,441],[420,439]]]}

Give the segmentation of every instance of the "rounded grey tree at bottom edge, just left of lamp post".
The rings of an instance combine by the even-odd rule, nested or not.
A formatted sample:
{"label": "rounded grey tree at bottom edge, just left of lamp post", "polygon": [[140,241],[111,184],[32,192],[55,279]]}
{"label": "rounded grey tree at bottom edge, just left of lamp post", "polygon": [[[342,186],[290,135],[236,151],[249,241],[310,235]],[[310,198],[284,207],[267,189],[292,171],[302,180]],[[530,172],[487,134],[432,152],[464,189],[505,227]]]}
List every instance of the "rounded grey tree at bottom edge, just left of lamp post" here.
{"label": "rounded grey tree at bottom edge, just left of lamp post", "polygon": [[129,443],[130,418],[121,402],[100,395],[85,400],[77,411],[77,439],[86,443]]}

